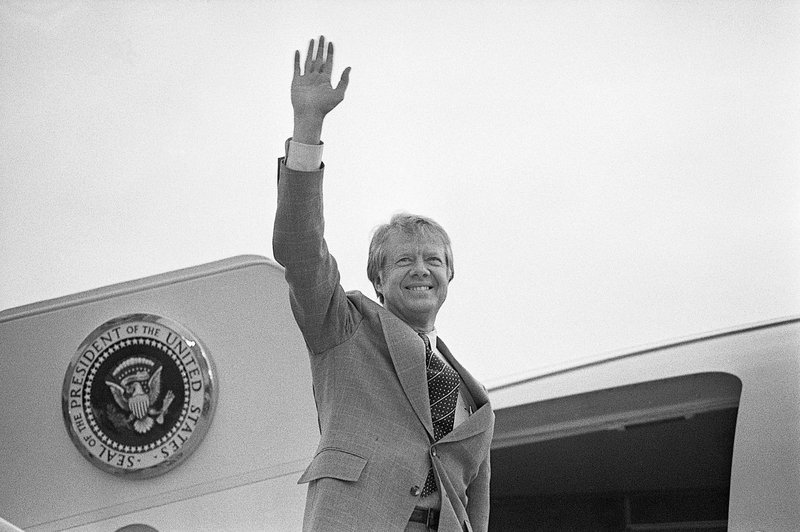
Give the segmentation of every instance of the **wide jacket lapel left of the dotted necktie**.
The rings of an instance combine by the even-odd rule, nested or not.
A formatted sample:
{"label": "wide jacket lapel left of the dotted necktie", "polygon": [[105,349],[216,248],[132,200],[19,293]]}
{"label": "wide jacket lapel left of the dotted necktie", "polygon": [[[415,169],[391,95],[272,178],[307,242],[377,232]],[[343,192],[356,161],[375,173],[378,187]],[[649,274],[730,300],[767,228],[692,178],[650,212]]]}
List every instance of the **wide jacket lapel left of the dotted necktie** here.
{"label": "wide jacket lapel left of the dotted necktie", "polygon": [[380,312],[378,316],[400,385],[420,422],[433,438],[428,380],[425,375],[425,344],[411,327],[392,313]]}

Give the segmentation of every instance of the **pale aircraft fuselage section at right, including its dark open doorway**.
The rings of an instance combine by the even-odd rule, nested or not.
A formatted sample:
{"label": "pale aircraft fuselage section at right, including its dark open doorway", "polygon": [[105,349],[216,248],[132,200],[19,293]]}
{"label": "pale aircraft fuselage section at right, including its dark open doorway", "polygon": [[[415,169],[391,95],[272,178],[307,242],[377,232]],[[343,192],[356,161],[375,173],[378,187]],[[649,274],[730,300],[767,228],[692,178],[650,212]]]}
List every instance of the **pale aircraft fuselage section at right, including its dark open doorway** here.
{"label": "pale aircraft fuselage section at right, including its dark open doorway", "polygon": [[800,318],[490,388],[494,530],[794,530]]}

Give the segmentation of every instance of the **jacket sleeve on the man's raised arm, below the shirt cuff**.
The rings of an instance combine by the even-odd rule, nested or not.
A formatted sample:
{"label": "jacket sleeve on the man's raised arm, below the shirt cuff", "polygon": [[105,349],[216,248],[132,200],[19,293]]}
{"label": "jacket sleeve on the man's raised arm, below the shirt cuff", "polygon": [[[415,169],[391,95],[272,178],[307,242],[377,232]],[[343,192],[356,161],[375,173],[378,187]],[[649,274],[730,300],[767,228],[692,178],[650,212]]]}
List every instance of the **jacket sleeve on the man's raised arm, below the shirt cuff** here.
{"label": "jacket sleeve on the man's raised arm, below the shirt cuff", "polygon": [[278,160],[278,206],[272,251],[285,268],[294,318],[312,354],[352,335],[360,314],[341,287],[339,268],[324,238],[324,166],[314,172],[287,168]]}

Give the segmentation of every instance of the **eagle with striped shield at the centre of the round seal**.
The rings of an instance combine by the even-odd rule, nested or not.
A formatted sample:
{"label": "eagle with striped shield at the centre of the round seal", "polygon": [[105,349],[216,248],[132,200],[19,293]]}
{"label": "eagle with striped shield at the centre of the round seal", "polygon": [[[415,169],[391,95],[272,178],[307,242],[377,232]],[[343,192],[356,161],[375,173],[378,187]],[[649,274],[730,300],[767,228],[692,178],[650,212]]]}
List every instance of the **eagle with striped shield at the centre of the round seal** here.
{"label": "eagle with striped shield at the centre of the round seal", "polygon": [[149,358],[133,356],[122,361],[112,372],[113,379],[106,385],[114,396],[114,401],[124,412],[123,423],[139,434],[147,433],[153,425],[164,423],[175,394],[167,390],[161,403],[156,403],[161,395],[161,370]]}

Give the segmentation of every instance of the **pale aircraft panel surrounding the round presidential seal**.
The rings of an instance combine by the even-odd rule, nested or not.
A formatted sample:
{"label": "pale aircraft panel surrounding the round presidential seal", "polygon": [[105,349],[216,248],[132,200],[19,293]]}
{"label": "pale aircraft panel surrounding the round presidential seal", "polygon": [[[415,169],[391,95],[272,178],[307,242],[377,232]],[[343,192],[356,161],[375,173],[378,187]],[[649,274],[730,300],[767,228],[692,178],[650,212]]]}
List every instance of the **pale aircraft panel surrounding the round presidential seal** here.
{"label": "pale aircraft panel surrounding the round presidential seal", "polygon": [[[213,421],[193,454],[145,479],[111,474],[84,458],[65,429],[61,404],[81,342],[108,320],[136,313],[168,318],[202,341],[218,391]],[[0,477],[13,479],[0,485],[0,516],[7,521],[30,531],[132,523],[246,530],[302,519],[305,489],[296,482],[319,433],[305,344],[283,270],[272,261],[235,257],[11,309],[0,314],[0,339]],[[188,373],[191,388],[192,367]],[[105,386],[96,383],[101,391]],[[150,405],[151,412],[159,405]],[[113,403],[106,407],[125,413]],[[89,434],[81,428],[81,436]],[[171,453],[177,442],[154,452]],[[106,451],[101,460],[137,458],[111,445]]]}

